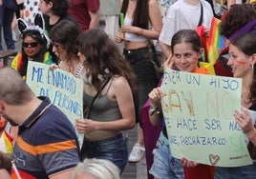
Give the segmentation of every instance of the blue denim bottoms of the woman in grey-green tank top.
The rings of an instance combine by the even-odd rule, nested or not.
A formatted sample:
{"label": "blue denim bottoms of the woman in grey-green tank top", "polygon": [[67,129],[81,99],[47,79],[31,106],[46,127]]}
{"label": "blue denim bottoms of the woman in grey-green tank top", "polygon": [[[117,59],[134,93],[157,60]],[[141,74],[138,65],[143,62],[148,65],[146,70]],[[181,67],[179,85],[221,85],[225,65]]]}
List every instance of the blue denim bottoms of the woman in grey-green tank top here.
{"label": "blue denim bottoms of the woman in grey-green tank top", "polygon": [[122,133],[100,141],[89,141],[85,138],[83,146],[82,159],[99,158],[110,160],[120,169],[120,174],[127,164],[128,149]]}

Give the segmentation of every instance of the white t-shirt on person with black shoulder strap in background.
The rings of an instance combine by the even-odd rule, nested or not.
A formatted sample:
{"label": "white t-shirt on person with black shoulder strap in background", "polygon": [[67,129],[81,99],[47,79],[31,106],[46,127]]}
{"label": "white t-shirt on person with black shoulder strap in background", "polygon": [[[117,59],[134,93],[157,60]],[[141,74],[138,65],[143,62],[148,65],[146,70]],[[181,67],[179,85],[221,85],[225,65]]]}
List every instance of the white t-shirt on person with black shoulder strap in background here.
{"label": "white t-shirt on person with black shoulder strap in background", "polygon": [[[213,11],[208,2],[201,0],[203,5],[203,26],[210,29]],[[179,30],[196,30],[201,16],[201,6],[191,6],[179,0],[167,11],[162,29],[160,41],[171,46],[173,35]]]}

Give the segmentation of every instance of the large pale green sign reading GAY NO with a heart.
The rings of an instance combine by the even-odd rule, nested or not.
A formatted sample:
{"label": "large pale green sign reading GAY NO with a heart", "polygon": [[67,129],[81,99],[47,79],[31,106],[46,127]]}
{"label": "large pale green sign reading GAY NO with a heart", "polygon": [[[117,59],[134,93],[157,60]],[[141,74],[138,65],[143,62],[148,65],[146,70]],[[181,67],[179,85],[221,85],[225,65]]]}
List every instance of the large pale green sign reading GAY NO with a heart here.
{"label": "large pale green sign reading GAY NO with a heart", "polygon": [[233,117],[241,108],[242,79],[167,69],[161,89],[173,156],[220,167],[251,164]]}

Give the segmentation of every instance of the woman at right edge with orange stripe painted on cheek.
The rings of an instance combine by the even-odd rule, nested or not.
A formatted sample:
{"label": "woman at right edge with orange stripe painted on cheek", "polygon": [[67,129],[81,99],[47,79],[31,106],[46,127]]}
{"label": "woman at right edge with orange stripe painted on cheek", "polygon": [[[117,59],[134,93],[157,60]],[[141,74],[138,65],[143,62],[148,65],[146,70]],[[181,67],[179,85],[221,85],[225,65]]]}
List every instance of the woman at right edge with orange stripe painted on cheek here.
{"label": "woman at right edge with orange stripe painted on cheek", "polygon": [[[233,39],[229,45],[229,55],[227,65],[231,68],[233,76],[243,78],[241,100],[243,107],[235,110],[234,117],[248,139],[256,145],[255,124],[252,124],[252,119],[248,112],[248,109],[256,110],[256,35],[245,33]],[[248,144],[249,150],[253,148],[252,143]],[[215,179],[255,178],[256,158],[253,155],[251,155],[251,158],[253,164],[249,166],[216,168]]]}

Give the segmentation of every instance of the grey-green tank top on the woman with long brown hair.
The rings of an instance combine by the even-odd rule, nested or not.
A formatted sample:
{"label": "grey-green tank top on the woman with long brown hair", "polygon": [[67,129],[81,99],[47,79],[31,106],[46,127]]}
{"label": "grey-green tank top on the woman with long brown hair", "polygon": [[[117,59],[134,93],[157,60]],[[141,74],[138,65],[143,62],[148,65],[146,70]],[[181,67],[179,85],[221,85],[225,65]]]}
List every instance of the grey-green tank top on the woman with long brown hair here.
{"label": "grey-green tank top on the woman with long brown hair", "polygon": [[115,77],[117,76],[113,76],[106,86],[108,88],[107,91],[96,97],[93,107],[91,107],[91,104],[95,96],[90,96],[86,92],[83,93],[84,105],[88,108],[92,108],[90,119],[100,122],[108,122],[122,118],[117,101],[113,101],[108,97],[108,91]]}

